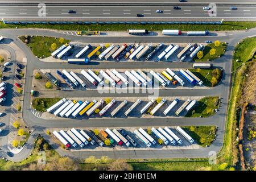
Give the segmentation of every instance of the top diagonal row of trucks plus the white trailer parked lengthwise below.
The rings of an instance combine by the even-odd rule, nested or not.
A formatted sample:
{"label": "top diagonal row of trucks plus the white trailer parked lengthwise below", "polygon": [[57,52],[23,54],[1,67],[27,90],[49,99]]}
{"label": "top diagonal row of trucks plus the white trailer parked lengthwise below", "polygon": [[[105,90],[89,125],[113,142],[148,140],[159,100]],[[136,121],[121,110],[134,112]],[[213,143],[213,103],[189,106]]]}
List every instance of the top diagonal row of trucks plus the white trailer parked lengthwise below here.
{"label": "top diagonal row of trucks plus the white trailer parked lengthwise below", "polygon": [[[114,60],[121,60],[122,57],[125,57],[127,59],[135,60],[135,59],[141,59],[142,56],[146,56],[146,60],[150,60],[152,56],[154,56],[157,52],[159,52],[163,48],[164,44],[160,43],[153,51],[149,52],[151,49],[151,44],[148,44],[146,46],[138,44],[134,46],[133,44],[127,46],[127,44],[123,44],[122,46],[115,46],[112,44],[108,48],[106,48],[103,52],[98,55],[98,58],[100,60],[105,59],[109,60],[110,57]],[[76,55],[75,59],[68,59],[68,63],[74,63],[74,64],[84,64],[88,63],[89,59],[91,59],[98,51],[100,51],[101,48],[103,48],[103,44],[100,46],[97,46],[94,48],[88,56],[86,56],[86,59],[81,59],[80,57],[84,55],[89,49],[92,48],[90,44],[86,45],[84,48],[81,49]],[[72,49],[74,48],[73,44],[63,44],[63,46],[59,47],[56,51],[52,52],[52,57],[57,57],[58,59],[61,59],[64,55],[71,55]],[[174,53],[179,49],[180,47],[178,45],[174,46],[173,44],[170,44],[166,49],[164,49],[157,57],[157,60],[160,61],[163,59],[168,60],[169,57],[174,55]],[[197,46],[197,44],[188,44],[178,55],[178,59],[181,61],[184,61],[188,55],[190,55],[191,59],[195,57],[196,53],[200,51],[200,49],[203,48],[203,44],[200,44],[200,46]],[[148,53],[149,52],[149,53]]]}

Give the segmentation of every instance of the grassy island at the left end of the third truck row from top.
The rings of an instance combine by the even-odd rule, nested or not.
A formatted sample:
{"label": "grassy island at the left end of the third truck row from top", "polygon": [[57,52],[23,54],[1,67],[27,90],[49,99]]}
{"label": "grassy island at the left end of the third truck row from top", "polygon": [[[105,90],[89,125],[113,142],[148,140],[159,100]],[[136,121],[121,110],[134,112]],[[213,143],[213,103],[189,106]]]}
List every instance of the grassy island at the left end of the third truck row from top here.
{"label": "grassy island at the left end of the third truck row from top", "polygon": [[44,112],[46,109],[51,107],[53,104],[61,100],[61,98],[35,98],[32,101],[32,106],[34,109]]}

